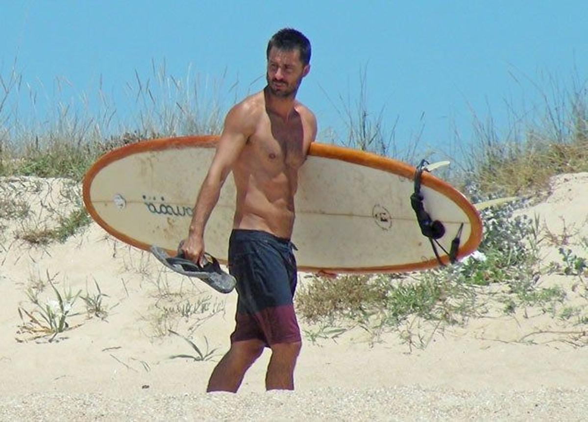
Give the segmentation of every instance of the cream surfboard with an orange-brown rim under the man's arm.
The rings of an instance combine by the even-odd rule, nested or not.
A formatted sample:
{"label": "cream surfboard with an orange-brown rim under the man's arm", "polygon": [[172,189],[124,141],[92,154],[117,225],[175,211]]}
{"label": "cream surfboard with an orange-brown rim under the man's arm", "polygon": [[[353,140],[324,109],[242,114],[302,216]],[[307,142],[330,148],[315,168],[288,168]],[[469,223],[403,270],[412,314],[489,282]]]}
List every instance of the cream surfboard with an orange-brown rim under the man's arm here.
{"label": "cream surfboard with an orange-brown rim under the man's arm", "polygon": [[[146,140],[102,156],[83,180],[83,201],[112,236],[140,249],[174,253],[188,233],[198,190],[215,153],[217,136]],[[299,171],[292,242],[302,271],[390,273],[439,265],[410,204],[415,167],[336,145],[312,143]],[[462,193],[430,172],[420,192],[426,211],[445,227],[438,239],[457,258],[476,250],[482,221]],[[229,176],[205,230],[206,252],[226,263],[235,212]],[[449,262],[447,253],[440,254]]]}

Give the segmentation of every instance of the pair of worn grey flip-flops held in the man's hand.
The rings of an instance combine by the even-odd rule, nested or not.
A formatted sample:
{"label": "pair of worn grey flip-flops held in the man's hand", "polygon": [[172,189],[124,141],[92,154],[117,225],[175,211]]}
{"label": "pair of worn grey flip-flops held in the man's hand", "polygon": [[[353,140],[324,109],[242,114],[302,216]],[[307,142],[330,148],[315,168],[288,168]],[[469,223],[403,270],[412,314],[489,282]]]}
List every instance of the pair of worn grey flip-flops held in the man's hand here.
{"label": "pair of worn grey flip-flops held in the man's hand", "polygon": [[235,277],[220,269],[218,260],[208,253],[204,256],[206,263],[200,265],[186,259],[181,251],[178,252],[178,256],[172,257],[161,247],[153,245],[149,249],[159,262],[169,269],[184,276],[197,277],[217,292],[230,293],[235,288]]}

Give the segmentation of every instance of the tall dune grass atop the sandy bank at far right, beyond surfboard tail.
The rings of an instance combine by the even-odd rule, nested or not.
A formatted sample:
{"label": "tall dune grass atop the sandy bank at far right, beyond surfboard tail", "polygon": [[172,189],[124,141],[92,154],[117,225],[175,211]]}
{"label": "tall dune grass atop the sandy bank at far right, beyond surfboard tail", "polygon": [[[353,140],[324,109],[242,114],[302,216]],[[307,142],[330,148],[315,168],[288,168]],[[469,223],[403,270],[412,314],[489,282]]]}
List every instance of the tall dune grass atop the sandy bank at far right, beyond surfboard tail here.
{"label": "tall dune grass atop the sandy bank at far right, beyond surfboard tail", "polygon": [[[557,89],[527,119],[514,119],[499,135],[489,119],[474,119],[476,144],[465,154],[465,175],[484,193],[534,194],[550,177],[588,171],[588,88]],[[553,98],[553,99],[550,99]],[[502,128],[504,129],[504,128]]]}

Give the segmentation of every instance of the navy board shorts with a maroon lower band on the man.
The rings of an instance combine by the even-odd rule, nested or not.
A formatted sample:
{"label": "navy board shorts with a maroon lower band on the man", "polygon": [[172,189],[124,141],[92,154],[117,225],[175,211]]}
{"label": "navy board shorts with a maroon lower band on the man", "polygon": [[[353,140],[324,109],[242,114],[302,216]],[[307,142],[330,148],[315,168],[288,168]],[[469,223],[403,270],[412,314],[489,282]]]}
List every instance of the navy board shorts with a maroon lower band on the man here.
{"label": "navy board shorts with a maroon lower band on the man", "polygon": [[260,230],[232,231],[229,272],[237,280],[231,343],[258,339],[265,346],[300,341],[292,299],[298,281],[295,246]]}

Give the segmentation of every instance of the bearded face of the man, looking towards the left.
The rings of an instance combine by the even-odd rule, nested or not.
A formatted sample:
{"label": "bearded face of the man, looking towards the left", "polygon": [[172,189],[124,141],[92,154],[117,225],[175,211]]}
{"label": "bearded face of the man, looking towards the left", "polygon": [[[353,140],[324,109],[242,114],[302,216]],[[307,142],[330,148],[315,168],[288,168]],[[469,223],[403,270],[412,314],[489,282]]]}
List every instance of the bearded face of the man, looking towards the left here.
{"label": "bearded face of the man, looking towards the left", "polygon": [[308,72],[310,65],[303,65],[300,61],[300,51],[280,50],[272,47],[268,56],[268,81],[269,91],[281,98],[289,98],[296,95],[300,82]]}

